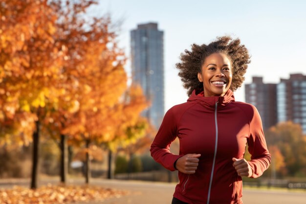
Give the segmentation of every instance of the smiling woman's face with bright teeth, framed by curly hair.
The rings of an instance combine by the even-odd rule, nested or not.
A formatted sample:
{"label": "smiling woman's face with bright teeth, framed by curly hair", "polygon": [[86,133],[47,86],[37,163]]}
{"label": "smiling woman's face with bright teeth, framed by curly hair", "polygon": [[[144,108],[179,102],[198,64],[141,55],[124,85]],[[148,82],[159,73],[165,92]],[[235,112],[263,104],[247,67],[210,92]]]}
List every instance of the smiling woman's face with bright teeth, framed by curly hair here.
{"label": "smiling woman's face with bright teeth, framed by curly hair", "polygon": [[232,83],[230,59],[223,53],[207,56],[197,78],[203,82],[204,96],[223,96]]}

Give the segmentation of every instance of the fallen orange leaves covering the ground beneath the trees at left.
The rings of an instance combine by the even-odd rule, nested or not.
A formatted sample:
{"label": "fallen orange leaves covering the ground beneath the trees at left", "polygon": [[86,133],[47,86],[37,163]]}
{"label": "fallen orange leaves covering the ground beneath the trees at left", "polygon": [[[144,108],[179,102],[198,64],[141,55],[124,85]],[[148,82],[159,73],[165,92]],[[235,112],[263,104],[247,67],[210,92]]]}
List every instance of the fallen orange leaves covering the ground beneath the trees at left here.
{"label": "fallen orange leaves covering the ground beneath the trees at left", "polygon": [[15,186],[12,189],[0,189],[1,204],[69,204],[77,202],[99,201],[111,197],[127,195],[127,191],[103,188],[93,185],[51,185],[32,190]]}

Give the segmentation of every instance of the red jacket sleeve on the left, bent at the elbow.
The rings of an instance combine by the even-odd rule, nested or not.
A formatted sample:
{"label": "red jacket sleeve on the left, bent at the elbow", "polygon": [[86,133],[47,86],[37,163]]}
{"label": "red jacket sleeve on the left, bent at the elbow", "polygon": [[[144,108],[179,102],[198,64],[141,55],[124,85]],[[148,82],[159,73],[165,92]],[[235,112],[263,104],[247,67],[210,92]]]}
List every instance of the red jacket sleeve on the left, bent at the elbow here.
{"label": "red jacket sleeve on the left, bent at the elbow", "polygon": [[176,170],[174,163],[176,159],[181,157],[170,152],[170,145],[175,140],[176,135],[176,120],[173,108],[171,108],[165,114],[150,149],[153,159],[170,171]]}

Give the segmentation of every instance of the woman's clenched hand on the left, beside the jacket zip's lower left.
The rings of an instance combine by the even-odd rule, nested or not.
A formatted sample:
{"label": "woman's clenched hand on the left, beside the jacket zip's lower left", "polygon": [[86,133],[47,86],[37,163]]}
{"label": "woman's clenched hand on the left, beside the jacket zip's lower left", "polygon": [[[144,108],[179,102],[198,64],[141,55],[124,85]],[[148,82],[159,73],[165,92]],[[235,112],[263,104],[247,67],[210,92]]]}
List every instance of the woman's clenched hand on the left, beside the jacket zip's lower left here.
{"label": "woman's clenched hand on the left, beside the jacket zip's lower left", "polygon": [[175,168],[184,174],[196,173],[200,154],[187,154],[176,160]]}

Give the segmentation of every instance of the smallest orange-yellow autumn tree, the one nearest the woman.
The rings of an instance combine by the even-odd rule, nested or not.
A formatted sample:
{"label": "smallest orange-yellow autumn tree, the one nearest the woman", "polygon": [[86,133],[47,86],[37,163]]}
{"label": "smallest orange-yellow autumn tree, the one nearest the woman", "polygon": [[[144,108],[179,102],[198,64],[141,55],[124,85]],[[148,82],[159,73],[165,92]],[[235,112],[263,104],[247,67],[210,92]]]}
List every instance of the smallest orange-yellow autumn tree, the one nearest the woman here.
{"label": "smallest orange-yellow autumn tree, the one nearest the woman", "polygon": [[[114,107],[113,110],[120,113],[120,117],[117,118],[117,121],[114,121],[116,132],[111,140],[103,142],[104,146],[109,150],[109,179],[113,175],[111,166],[113,153],[122,149],[133,149],[132,147],[136,147],[140,151],[143,147],[148,146],[149,140],[146,136],[150,133],[150,124],[146,118],[140,115],[148,106],[149,102],[143,95],[142,89],[133,85]],[[129,155],[131,156],[131,154]]]}

